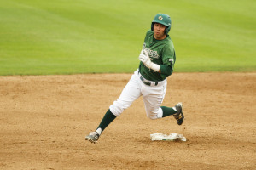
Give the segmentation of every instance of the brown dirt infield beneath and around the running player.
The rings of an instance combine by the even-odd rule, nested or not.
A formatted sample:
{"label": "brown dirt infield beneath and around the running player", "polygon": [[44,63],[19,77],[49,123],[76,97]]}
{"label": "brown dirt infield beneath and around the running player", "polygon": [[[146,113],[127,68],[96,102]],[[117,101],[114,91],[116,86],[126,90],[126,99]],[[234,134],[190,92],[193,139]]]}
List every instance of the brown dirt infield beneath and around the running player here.
{"label": "brown dirt infield beneath and around the running player", "polygon": [[163,105],[183,102],[181,127],[148,119],[140,98],[98,144],[85,141],[130,77],[0,77],[0,169],[256,169],[256,73],[174,73]]}

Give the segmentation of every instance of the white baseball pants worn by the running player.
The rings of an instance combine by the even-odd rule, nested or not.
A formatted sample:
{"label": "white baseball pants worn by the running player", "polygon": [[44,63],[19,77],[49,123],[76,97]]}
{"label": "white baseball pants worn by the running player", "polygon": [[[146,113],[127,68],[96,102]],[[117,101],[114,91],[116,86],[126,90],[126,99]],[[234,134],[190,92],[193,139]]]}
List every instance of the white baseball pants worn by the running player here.
{"label": "white baseball pants worn by the running player", "polygon": [[[139,71],[134,71],[130,81],[126,84],[119,99],[110,105],[109,109],[115,116],[119,116],[132,102],[143,96],[143,101],[148,118],[157,119],[163,116],[160,105],[166,95],[167,81],[158,82],[157,85],[148,86],[141,80]],[[148,81],[149,82],[149,81]]]}

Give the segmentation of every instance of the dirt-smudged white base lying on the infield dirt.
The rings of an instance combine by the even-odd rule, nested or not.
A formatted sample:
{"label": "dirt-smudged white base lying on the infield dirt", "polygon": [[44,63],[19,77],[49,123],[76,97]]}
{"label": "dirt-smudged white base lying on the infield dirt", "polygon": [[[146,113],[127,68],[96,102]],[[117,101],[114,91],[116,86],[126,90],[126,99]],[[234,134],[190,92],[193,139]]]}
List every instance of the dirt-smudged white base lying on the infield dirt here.
{"label": "dirt-smudged white base lying on the infield dirt", "polygon": [[187,141],[186,137],[183,136],[183,134],[178,133],[170,133],[169,135],[163,134],[163,133],[154,133],[150,134],[150,139],[152,141],[154,140],[166,140],[166,141]]}

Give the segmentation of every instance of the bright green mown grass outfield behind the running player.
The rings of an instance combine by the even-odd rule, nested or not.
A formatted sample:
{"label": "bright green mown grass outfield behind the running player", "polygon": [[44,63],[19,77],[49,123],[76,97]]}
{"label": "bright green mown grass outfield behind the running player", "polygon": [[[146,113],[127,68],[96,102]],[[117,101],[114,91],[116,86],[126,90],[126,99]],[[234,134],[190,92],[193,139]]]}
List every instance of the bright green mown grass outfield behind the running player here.
{"label": "bright green mown grass outfield behind the running player", "polygon": [[171,16],[175,71],[256,71],[256,2],[9,0],[0,75],[132,72],[157,13]]}

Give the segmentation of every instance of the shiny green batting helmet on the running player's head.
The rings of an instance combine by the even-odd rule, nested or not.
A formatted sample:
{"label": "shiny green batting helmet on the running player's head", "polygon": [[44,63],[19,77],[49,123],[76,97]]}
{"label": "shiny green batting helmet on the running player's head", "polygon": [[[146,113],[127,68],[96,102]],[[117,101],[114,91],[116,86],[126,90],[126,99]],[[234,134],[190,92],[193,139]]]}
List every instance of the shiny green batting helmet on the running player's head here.
{"label": "shiny green batting helmet on the running player's head", "polygon": [[151,23],[151,31],[154,31],[154,23],[160,23],[166,26],[166,34],[168,34],[168,32],[171,30],[172,21],[168,14],[156,14],[154,16],[154,20]]}

